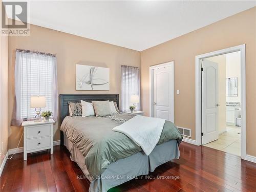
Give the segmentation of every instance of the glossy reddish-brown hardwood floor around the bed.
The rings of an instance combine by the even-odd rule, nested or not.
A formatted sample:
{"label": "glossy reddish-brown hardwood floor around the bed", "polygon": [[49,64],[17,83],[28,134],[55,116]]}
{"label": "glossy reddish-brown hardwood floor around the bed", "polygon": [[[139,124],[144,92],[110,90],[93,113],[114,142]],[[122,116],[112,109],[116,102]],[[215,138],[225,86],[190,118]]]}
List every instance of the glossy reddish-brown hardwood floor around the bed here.
{"label": "glossy reddish-brown hardwood floor around the bed", "polygon": [[[77,179],[83,174],[69,156],[63,146],[55,146],[53,155],[29,155],[27,161],[22,153],[14,155],[4,168],[1,191],[88,191],[90,182]],[[159,166],[150,176],[109,191],[256,191],[256,164],[184,142],[180,159]],[[157,179],[159,176],[163,178]]]}

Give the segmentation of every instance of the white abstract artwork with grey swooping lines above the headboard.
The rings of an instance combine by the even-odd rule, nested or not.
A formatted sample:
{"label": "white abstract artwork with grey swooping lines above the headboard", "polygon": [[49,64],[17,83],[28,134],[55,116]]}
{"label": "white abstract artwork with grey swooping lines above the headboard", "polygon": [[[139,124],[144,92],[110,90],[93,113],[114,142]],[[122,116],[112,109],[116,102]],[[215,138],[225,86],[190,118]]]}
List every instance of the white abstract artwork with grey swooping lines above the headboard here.
{"label": "white abstract artwork with grey swooping lines above the headboard", "polygon": [[110,69],[76,64],[76,90],[110,90]]}

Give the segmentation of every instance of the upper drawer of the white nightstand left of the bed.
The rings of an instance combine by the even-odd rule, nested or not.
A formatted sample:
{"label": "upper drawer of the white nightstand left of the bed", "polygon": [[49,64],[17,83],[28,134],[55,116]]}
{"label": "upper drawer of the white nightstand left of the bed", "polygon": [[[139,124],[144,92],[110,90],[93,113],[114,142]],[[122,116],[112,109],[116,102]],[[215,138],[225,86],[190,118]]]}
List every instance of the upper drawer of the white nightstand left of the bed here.
{"label": "upper drawer of the white nightstand left of the bed", "polygon": [[27,129],[27,138],[44,137],[51,135],[51,125],[31,126]]}

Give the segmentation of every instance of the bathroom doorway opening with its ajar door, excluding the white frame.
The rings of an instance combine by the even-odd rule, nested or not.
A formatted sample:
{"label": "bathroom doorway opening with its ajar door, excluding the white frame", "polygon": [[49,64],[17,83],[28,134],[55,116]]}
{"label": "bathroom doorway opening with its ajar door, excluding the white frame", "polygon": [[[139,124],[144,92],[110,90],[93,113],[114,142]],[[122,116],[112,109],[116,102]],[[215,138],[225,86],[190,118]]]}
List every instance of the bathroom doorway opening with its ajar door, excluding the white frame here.
{"label": "bathroom doorway opening with its ajar door, excluding the white frame", "polygon": [[[240,55],[237,51],[202,59],[202,67],[207,71],[202,72],[202,128],[206,134],[202,144],[237,156],[241,156]],[[214,129],[216,132],[212,132]]]}

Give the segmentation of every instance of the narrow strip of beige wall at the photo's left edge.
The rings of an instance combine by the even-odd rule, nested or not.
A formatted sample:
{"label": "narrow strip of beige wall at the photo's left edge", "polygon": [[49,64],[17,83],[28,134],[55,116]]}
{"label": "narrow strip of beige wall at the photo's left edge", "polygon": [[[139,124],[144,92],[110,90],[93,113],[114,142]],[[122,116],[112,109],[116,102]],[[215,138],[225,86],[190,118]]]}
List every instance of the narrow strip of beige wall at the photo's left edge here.
{"label": "narrow strip of beige wall at the photo's left edge", "polygon": [[[1,1],[0,4],[2,5]],[[2,35],[0,35],[0,88],[0,152],[6,155],[8,147],[8,36]],[[0,165],[3,160],[0,158]]]}

